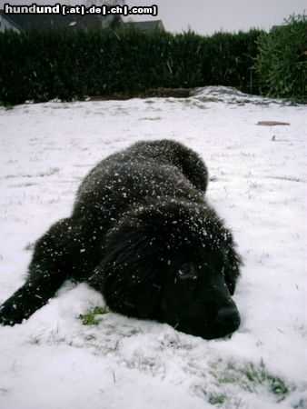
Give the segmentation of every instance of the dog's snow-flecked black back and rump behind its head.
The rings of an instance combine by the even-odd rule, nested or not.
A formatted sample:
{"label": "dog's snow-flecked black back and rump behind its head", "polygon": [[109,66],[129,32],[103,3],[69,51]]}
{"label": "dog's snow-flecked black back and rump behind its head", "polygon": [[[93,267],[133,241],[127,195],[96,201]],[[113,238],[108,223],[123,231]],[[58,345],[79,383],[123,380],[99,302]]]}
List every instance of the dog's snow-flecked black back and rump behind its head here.
{"label": "dog's snow-flecked black back and rump behind its head", "polygon": [[173,141],[142,141],[108,156],[84,178],[73,216],[105,212],[107,220],[153,197],[203,195],[207,168],[193,150]]}

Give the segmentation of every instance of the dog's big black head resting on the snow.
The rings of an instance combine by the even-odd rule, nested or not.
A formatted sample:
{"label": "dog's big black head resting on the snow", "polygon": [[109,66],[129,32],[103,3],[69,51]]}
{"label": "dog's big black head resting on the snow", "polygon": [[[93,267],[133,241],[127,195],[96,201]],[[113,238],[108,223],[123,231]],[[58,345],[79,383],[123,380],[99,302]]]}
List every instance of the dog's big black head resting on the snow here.
{"label": "dog's big black head resting on the snow", "polygon": [[231,295],[240,256],[208,206],[165,200],[125,214],[91,277],[115,312],[156,319],[186,334],[232,334],[240,315]]}

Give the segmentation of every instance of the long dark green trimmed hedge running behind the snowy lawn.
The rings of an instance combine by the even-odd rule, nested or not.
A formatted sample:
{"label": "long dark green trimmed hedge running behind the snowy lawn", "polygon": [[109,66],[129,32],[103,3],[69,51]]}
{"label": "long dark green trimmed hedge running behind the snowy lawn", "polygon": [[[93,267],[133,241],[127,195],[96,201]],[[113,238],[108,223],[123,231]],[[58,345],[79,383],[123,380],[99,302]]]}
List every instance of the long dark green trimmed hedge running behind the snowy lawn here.
{"label": "long dark green trimmed hedge running behind the snowy lawn", "polygon": [[13,105],[203,85],[252,90],[261,34],[173,35],[133,28],[5,32],[0,35],[0,101]]}

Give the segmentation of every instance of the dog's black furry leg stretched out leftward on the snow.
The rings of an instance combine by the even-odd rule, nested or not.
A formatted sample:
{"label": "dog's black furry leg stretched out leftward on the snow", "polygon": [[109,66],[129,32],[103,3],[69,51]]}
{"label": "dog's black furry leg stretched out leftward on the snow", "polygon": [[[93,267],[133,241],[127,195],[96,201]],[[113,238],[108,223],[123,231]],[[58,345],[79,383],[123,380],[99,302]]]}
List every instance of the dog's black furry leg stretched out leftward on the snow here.
{"label": "dog's black furry leg stretched out leftward on the snow", "polygon": [[0,306],[0,324],[20,324],[64,283],[70,271],[66,251],[70,231],[70,219],[63,219],[36,242],[25,284]]}

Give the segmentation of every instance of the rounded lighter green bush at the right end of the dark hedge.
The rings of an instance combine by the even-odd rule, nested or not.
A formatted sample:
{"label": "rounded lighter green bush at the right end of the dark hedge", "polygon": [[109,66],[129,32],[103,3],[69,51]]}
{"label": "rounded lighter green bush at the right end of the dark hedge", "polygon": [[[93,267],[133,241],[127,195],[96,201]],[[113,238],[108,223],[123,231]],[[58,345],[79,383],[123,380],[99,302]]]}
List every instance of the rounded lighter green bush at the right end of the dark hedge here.
{"label": "rounded lighter green bush at the right end of the dark hedge", "polygon": [[254,65],[262,92],[269,96],[306,100],[307,19],[292,15],[285,25],[262,33]]}

